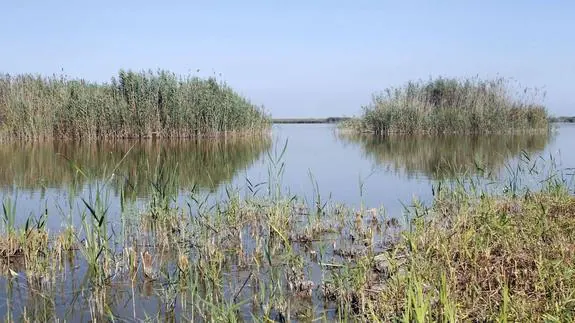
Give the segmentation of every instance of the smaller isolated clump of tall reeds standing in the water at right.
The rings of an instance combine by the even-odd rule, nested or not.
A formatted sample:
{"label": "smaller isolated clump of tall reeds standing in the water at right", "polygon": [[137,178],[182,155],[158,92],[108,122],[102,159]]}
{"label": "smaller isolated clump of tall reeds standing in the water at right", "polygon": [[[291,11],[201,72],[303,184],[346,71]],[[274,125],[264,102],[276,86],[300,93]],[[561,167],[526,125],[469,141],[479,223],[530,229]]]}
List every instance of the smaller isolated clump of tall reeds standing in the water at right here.
{"label": "smaller isolated clump of tall reeds standing in the water at right", "polygon": [[485,134],[547,131],[544,93],[513,93],[505,79],[437,78],[409,82],[373,95],[363,115],[344,123],[357,132],[388,134]]}

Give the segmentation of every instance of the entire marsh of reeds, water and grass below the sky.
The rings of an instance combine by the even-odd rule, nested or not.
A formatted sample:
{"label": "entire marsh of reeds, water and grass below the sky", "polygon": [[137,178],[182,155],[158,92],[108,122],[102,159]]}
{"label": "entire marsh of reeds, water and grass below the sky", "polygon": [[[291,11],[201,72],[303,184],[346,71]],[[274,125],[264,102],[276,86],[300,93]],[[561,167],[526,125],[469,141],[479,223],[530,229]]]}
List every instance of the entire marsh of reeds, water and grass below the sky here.
{"label": "entire marsh of reeds, water and grass below the sky", "polygon": [[575,127],[520,93],[274,124],[215,78],[3,75],[0,316],[572,321]]}

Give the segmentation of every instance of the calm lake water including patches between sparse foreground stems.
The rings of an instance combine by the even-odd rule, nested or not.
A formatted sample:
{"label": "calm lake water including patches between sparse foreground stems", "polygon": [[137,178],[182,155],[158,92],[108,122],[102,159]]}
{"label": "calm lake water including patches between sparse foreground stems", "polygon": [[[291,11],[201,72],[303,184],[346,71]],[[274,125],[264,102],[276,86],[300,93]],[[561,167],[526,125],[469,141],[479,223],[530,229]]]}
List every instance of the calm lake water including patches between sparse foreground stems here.
{"label": "calm lake water including patches between sparse foreground stems", "polygon": [[[303,197],[310,203],[319,193],[322,201],[351,207],[383,206],[389,216],[400,218],[403,205],[412,199],[429,201],[432,186],[439,181],[479,173],[505,178],[521,156],[555,159],[560,169],[575,167],[575,151],[571,149],[575,126],[571,124],[558,125],[549,136],[373,138],[345,135],[333,125],[313,124],[275,125],[272,133],[271,138],[249,140],[4,144],[0,145],[0,199],[16,202],[17,223],[47,212],[48,228],[58,231],[66,223],[79,226],[75,213],[80,209],[79,197],[89,199],[103,185],[109,188],[109,215],[119,221],[121,200],[147,203],[154,194],[150,183],[162,183],[170,174],[177,178],[174,186],[182,203],[194,187],[202,194],[210,193],[213,200],[225,196],[226,187],[250,194],[248,186],[269,180],[274,156],[281,155],[287,145],[275,163],[285,164],[281,179],[284,194]],[[258,187],[265,195],[267,185]],[[91,289],[88,293],[81,287],[85,263],[77,255],[71,256],[64,268],[67,279],[58,288],[47,289],[53,295],[38,292],[44,287],[34,286],[30,279],[0,277],[1,299],[6,300],[0,302],[0,316],[7,318],[7,309],[13,306],[12,315],[16,316],[27,307],[43,317],[86,321],[92,306],[90,297],[106,299],[119,319],[162,312],[163,290],[157,284],[120,281],[112,290],[98,294]],[[317,267],[310,270],[315,272],[312,277],[319,275]],[[248,272],[229,275],[237,288]],[[308,307],[320,303],[315,295]],[[182,304],[184,300],[176,304],[176,312],[182,310]],[[82,310],[67,316],[70,306]]]}

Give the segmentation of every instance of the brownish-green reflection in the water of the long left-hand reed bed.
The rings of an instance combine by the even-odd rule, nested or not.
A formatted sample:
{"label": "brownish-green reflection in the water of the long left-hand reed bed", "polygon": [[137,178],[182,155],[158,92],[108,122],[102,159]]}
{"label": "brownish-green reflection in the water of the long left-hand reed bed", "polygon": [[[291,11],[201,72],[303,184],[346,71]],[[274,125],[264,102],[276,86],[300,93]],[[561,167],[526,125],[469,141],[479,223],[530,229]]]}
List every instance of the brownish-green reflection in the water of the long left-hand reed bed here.
{"label": "brownish-green reflection in the water of the long left-hand reed bed", "polygon": [[[134,147],[130,150],[130,148]],[[82,183],[78,169],[99,178],[119,163],[115,183],[138,194],[150,189],[156,169],[175,170],[182,186],[214,188],[251,165],[269,149],[268,136],[182,141],[101,142],[93,144],[6,143],[0,145],[0,185],[61,187]],[[110,175],[110,174],[106,174]],[[125,185],[124,185],[125,184]]]}

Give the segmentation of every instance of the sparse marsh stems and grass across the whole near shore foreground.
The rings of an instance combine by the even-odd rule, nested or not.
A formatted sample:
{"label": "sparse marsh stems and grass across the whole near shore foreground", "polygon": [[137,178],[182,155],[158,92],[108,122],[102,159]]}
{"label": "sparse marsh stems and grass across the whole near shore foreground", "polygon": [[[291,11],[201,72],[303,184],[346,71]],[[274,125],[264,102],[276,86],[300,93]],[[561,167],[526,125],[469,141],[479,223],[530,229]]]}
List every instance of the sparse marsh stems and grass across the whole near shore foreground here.
{"label": "sparse marsh stems and grass across the whole near shore foreground", "polygon": [[[528,161],[518,172],[546,178],[535,188],[513,179],[482,186],[473,177],[437,184],[431,204],[415,200],[402,223],[383,209],[289,196],[280,184],[284,164],[270,158],[261,193],[248,183],[250,193],[226,190],[227,199],[208,205],[192,191],[181,207],[172,195],[178,178],[160,170],[144,208],[122,201],[114,220],[103,187],[90,190],[70,204],[81,225],[60,232],[48,232],[54,215],[47,213],[17,225],[15,204],[5,198],[0,268],[13,282],[7,295],[29,284],[29,297],[44,304],[11,303],[8,319],[54,320],[63,313],[55,304],[66,304],[61,286],[74,279],[73,286],[85,284],[75,290],[97,321],[114,320],[120,303],[130,306],[122,298],[114,303],[120,286],[128,294],[156,290],[157,320],[575,319],[575,197],[561,172],[537,173],[537,161]],[[83,277],[69,272],[79,264],[88,268]]]}

